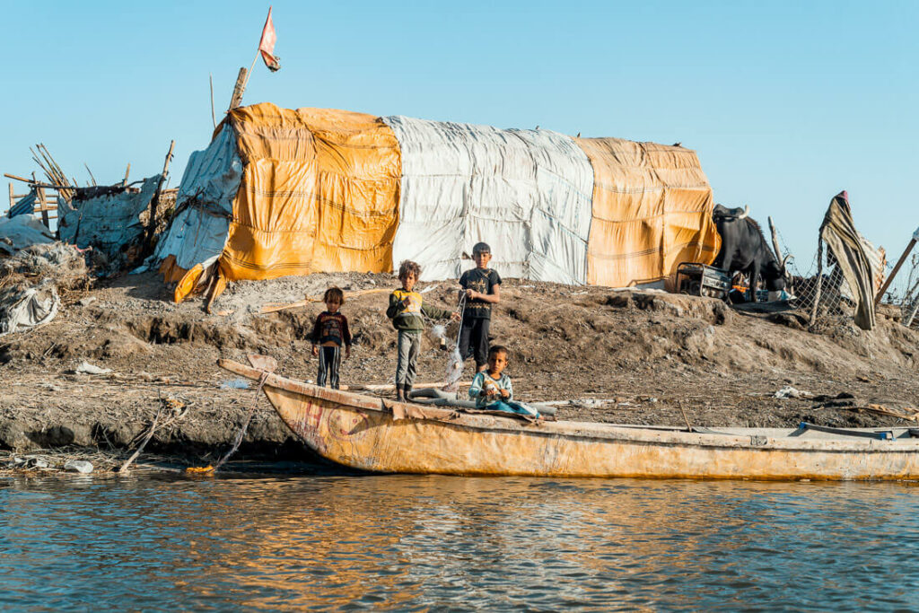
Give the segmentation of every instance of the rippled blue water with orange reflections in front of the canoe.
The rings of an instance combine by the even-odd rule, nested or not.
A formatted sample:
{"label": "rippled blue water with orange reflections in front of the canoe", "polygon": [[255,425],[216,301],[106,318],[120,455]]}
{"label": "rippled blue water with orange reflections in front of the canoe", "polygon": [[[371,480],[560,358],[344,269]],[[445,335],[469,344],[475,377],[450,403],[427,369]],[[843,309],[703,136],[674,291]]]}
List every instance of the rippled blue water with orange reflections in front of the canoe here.
{"label": "rippled blue water with orange reflections in front of the canoe", "polygon": [[0,479],[3,610],[919,607],[919,488]]}

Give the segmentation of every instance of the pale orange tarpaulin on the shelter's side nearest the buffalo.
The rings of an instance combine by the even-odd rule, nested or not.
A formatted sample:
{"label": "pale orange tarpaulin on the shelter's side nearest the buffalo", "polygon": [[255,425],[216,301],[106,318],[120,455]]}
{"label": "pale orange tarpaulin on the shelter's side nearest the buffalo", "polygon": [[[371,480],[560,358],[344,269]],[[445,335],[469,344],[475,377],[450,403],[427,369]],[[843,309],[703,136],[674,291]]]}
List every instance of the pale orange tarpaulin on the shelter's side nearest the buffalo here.
{"label": "pale orange tarpaulin on the shelter's side nearest the buffalo", "polygon": [[575,141],[594,167],[588,284],[670,280],[680,262],[714,261],[714,200],[695,152],[621,139]]}

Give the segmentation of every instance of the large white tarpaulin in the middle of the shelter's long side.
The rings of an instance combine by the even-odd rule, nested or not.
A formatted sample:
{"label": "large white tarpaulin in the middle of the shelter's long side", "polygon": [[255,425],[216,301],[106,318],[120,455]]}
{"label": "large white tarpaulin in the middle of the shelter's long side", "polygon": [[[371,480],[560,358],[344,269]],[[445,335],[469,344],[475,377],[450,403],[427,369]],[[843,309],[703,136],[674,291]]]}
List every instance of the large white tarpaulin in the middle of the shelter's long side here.
{"label": "large white tarpaulin in the middle of the shelter's long side", "polygon": [[402,151],[393,268],[459,277],[463,252],[491,245],[502,276],[586,281],[594,171],[573,139],[553,131],[383,118]]}

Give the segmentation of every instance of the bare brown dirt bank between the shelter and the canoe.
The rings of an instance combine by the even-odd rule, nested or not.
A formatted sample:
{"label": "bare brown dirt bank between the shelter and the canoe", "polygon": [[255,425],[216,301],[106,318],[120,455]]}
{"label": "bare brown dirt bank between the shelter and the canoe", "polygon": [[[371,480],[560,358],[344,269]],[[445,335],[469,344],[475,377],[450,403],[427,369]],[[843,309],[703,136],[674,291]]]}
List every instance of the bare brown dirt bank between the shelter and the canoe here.
{"label": "bare brown dirt bank between the shelter and the canoe", "polygon": [[[258,314],[268,302],[299,301],[329,285],[346,294],[389,289],[390,275],[323,274],[233,285],[215,302],[175,304],[152,274],[74,290],[51,324],[0,338],[0,448],[62,445],[130,447],[166,399],[187,417],[153,437],[157,453],[212,460],[232,444],[252,390],[217,358],[249,353],[278,358],[280,373],[312,380],[316,362],[304,340],[321,303]],[[422,283],[426,301],[452,303],[455,283]],[[866,333],[844,319],[807,331],[802,312],[741,312],[720,301],[661,292],[573,288],[508,279],[492,326],[511,348],[509,371],[523,400],[573,400],[563,419],[693,426],[879,426],[902,420],[824,399],[778,399],[786,386],[853,398],[848,407],[913,407],[919,334],[881,313]],[[355,335],[344,383],[387,383],[395,369],[384,291],[352,297],[343,311]],[[448,328],[455,335],[455,328]],[[420,380],[440,380],[446,355],[425,339]],[[111,369],[76,374],[84,360]],[[467,373],[471,363],[467,364]],[[221,387],[223,386],[223,387]],[[832,403],[831,403],[832,404]],[[823,407],[823,408],[821,408]],[[136,442],[136,441],[135,441]],[[241,454],[298,457],[301,445],[259,400]]]}

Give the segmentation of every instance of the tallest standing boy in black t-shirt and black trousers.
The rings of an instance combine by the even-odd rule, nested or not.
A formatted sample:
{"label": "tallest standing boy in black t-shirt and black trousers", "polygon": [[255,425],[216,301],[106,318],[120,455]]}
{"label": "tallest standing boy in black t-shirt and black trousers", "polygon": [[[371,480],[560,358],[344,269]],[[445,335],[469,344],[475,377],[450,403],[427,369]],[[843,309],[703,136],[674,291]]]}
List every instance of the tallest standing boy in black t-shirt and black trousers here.
{"label": "tallest standing boy in black t-shirt and black trousers", "polygon": [[492,259],[492,248],[479,243],[472,247],[475,267],[459,278],[462,289],[460,298],[466,295],[466,309],[463,311],[462,328],[459,331],[459,355],[463,359],[475,357],[475,369],[482,372],[488,361],[488,328],[492,323],[492,305],[501,301],[501,276],[488,268]]}

